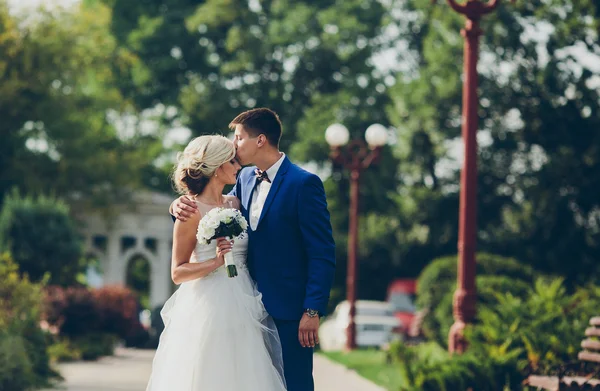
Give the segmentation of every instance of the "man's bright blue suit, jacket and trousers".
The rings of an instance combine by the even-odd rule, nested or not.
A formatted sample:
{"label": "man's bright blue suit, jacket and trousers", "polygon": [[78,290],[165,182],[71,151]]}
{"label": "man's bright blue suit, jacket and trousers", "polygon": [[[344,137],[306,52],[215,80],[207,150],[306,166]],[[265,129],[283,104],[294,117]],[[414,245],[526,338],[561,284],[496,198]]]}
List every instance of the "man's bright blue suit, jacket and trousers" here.
{"label": "man's bright blue suit, jacket and trousers", "polygon": [[[231,192],[248,221],[254,169],[244,168]],[[288,391],[312,391],[313,351],[300,345],[298,326],[304,309],[325,312],[335,270],[335,243],[319,177],[286,157],[256,230],[248,232],[248,268],[279,331]]]}

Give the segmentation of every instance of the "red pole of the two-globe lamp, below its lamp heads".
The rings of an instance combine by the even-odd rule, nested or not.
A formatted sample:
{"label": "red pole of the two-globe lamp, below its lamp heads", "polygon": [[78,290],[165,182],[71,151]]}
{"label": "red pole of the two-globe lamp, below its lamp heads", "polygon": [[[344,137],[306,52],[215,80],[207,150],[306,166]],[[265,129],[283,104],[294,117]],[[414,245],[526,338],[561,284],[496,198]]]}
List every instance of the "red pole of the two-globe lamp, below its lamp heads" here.
{"label": "red pole of the two-globe lamp, below its lamp heads", "polygon": [[346,276],[347,300],[350,304],[346,349],[356,349],[356,281],[358,277],[358,198],[360,169],[353,167],[350,172],[350,227],[348,235],[348,273]]}

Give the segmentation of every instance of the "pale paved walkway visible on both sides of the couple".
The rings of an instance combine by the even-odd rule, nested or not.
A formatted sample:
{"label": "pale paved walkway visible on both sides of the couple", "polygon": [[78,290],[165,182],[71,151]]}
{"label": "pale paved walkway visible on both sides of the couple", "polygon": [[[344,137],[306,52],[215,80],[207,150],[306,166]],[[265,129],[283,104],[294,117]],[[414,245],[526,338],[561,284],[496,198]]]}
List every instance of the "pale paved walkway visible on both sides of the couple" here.
{"label": "pale paved walkway visible on both sides of the couple", "polygon": [[[145,391],[154,351],[119,349],[114,357],[60,366],[66,391]],[[178,391],[178,390],[165,390]],[[315,391],[384,391],[354,371],[315,355]]]}

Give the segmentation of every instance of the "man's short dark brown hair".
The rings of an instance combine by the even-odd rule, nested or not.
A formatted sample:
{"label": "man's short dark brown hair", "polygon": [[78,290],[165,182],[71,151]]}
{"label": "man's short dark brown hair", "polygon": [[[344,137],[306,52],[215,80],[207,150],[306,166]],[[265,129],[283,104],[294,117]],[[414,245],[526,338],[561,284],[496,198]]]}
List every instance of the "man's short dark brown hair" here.
{"label": "man's short dark brown hair", "polygon": [[252,137],[264,134],[269,144],[279,148],[281,140],[281,121],[276,112],[265,107],[244,111],[231,121],[229,128],[242,125]]}

